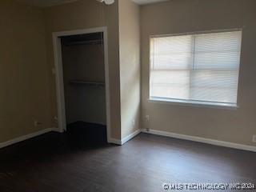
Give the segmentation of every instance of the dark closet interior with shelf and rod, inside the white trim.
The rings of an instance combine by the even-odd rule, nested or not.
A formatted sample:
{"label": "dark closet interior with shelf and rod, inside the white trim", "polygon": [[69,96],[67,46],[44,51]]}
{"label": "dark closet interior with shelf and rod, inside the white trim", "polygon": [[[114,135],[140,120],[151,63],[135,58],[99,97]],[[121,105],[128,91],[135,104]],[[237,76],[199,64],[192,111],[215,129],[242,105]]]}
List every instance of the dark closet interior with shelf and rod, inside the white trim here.
{"label": "dark closet interior with shelf and rod, inside the white trim", "polygon": [[106,142],[103,33],[61,40],[67,131],[79,133],[82,141]]}

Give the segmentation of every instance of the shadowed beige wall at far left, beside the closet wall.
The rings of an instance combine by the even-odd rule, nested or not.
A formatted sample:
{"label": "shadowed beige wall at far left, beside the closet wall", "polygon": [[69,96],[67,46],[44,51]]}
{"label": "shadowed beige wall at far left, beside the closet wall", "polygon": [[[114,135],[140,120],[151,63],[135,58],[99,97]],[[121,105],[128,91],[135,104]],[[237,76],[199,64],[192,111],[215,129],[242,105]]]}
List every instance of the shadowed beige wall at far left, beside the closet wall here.
{"label": "shadowed beige wall at far left, beside the closet wall", "polygon": [[0,13],[0,142],[6,142],[50,128],[50,106],[42,10],[1,0]]}

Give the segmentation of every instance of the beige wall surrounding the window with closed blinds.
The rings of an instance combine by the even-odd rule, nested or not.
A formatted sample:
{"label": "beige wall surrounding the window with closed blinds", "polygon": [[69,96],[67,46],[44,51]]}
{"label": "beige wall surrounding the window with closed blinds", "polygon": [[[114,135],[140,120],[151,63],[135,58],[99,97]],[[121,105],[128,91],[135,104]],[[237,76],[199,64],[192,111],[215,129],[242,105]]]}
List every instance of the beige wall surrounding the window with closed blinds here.
{"label": "beige wall surrounding the window with closed blinds", "polygon": [[[256,134],[256,2],[254,0],[172,0],[142,6],[142,118],[149,128],[213,138],[226,142],[252,143]],[[244,27],[238,110],[150,103],[149,66],[152,34],[177,34],[201,30]]]}

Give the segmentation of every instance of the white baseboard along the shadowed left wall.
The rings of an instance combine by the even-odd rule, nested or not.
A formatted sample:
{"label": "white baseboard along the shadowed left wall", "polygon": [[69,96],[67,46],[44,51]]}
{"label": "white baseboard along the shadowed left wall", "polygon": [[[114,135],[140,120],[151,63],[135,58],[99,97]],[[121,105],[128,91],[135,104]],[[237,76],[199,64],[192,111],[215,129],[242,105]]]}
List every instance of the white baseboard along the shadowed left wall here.
{"label": "white baseboard along the shadowed left wall", "polygon": [[3,147],[6,147],[6,146],[14,145],[17,142],[23,142],[23,141],[25,141],[27,139],[37,137],[37,136],[39,136],[41,134],[49,133],[50,131],[54,131],[54,129],[55,128],[48,128],[48,129],[45,129],[45,130],[39,130],[38,132],[35,132],[35,133],[32,133],[32,134],[26,134],[24,136],[11,139],[11,140],[9,140],[7,142],[0,142],[0,149],[3,148]]}

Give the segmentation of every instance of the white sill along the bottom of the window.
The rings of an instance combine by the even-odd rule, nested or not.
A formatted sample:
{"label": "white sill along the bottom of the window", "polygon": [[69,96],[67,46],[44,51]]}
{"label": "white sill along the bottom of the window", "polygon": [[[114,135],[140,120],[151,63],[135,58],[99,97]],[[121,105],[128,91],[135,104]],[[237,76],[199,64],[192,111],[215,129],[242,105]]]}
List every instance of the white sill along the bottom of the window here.
{"label": "white sill along the bottom of the window", "polygon": [[189,100],[179,100],[179,99],[170,99],[170,98],[150,98],[148,102],[178,105],[178,106],[195,106],[195,107],[207,107],[215,109],[224,109],[224,110],[238,110],[238,105],[232,103],[222,103],[222,102],[198,102],[198,101],[189,101]]}

